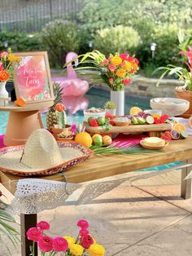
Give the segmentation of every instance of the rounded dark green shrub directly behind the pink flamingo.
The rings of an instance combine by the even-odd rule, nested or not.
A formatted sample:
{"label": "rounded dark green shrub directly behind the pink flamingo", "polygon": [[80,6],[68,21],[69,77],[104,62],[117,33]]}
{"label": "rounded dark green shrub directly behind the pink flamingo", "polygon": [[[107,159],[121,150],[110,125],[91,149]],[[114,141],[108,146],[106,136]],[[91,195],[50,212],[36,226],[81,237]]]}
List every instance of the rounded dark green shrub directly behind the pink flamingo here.
{"label": "rounded dark green shrub directly behind the pink flamingo", "polygon": [[63,66],[69,51],[79,50],[80,38],[77,25],[66,20],[55,20],[46,24],[42,29],[41,38],[49,53],[50,64],[55,67]]}

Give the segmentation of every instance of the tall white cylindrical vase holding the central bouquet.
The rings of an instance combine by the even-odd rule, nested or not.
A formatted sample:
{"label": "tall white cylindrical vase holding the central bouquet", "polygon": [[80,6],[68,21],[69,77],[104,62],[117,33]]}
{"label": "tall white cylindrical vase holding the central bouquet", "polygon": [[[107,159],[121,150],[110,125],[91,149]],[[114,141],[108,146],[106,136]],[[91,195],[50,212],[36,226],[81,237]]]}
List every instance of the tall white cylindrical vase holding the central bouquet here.
{"label": "tall white cylindrical vase holding the central bouquet", "polygon": [[124,116],[124,90],[111,90],[111,101],[116,104],[116,115]]}

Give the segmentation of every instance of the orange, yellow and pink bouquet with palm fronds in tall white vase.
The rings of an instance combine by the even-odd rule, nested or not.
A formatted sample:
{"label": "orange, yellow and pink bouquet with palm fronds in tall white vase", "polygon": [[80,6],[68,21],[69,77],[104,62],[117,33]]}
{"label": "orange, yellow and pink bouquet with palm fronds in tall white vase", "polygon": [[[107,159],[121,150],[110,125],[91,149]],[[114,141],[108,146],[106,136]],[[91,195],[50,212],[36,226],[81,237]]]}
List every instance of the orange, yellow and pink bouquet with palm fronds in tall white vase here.
{"label": "orange, yellow and pink bouquet with palm fronds in tall white vase", "polygon": [[[139,61],[127,53],[116,53],[106,58],[99,51],[91,51],[85,55],[80,55],[79,64],[83,67],[77,69],[93,69],[99,72],[103,82],[111,88],[111,90],[124,90],[124,86],[128,86],[131,77],[137,72]],[[74,61],[74,60],[72,60]],[[90,64],[88,66],[87,64]]]}

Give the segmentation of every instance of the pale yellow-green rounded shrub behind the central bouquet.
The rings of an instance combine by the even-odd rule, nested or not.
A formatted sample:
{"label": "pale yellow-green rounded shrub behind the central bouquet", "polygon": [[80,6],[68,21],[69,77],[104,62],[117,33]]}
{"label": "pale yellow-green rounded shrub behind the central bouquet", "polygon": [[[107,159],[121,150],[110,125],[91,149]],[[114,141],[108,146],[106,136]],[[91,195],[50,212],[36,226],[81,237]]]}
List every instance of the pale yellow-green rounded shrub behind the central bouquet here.
{"label": "pale yellow-green rounded shrub behind the central bouquet", "polygon": [[94,40],[94,48],[104,55],[116,52],[133,54],[139,45],[140,37],[133,28],[122,25],[110,29],[102,29]]}

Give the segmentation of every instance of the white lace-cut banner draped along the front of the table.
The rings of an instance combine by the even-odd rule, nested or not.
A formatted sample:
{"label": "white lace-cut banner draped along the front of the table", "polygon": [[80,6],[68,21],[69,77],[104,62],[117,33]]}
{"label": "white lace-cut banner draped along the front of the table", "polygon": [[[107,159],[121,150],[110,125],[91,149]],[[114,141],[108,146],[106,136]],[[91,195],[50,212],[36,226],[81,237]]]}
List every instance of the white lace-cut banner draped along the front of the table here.
{"label": "white lace-cut banner draped along the front of the table", "polygon": [[[41,210],[54,209],[60,205],[65,205],[68,197],[77,189],[78,199],[74,204],[85,204],[88,201],[111,191],[120,186],[121,183],[128,181],[132,183],[139,179],[148,179],[150,177],[168,173],[169,171],[189,167],[191,164],[175,166],[166,170],[151,171],[148,174],[137,174],[124,179],[112,179],[92,183],[65,183],[47,179],[20,179],[16,186],[15,198],[11,202],[11,207],[15,214],[37,214]],[[192,178],[189,174],[188,179]]]}

